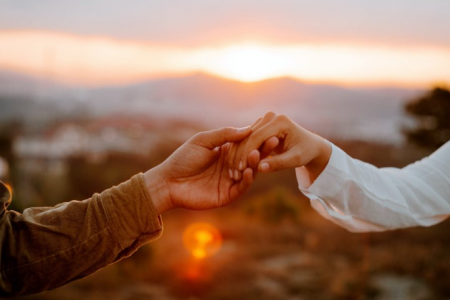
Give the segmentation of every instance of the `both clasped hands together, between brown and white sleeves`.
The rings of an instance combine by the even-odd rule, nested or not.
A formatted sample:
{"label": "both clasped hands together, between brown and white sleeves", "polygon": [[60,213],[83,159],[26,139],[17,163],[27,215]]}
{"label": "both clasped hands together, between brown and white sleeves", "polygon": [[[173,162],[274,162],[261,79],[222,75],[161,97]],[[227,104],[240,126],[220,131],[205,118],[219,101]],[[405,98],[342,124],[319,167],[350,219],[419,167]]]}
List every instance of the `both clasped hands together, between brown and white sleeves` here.
{"label": "both clasped hands together, between brown and white sleeves", "polygon": [[196,134],[144,176],[158,213],[203,210],[238,199],[258,172],[305,167],[314,181],[330,154],[325,139],[269,112],[249,127]]}

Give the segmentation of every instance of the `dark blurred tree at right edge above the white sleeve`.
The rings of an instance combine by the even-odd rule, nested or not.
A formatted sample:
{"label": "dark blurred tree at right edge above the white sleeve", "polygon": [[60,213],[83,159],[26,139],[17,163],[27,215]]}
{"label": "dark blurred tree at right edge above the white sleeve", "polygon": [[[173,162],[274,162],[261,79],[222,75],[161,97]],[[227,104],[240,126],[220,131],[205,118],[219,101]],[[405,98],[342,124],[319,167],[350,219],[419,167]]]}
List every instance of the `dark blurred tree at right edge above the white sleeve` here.
{"label": "dark blurred tree at right edge above the white sleeve", "polygon": [[405,130],[408,141],[426,148],[439,148],[450,140],[450,91],[436,87],[405,106],[417,122]]}

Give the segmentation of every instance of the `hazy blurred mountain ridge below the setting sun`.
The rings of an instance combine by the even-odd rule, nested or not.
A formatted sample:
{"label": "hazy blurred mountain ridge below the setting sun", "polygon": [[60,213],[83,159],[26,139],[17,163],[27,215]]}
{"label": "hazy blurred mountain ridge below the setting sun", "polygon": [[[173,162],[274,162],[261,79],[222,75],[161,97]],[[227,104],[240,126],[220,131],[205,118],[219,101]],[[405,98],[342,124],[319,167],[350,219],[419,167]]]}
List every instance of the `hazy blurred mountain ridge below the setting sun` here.
{"label": "hazy blurred mountain ridge below the setting sun", "polygon": [[[15,86],[20,86],[21,78],[15,78],[18,78]],[[96,88],[68,87],[53,82],[43,86],[37,94],[21,94],[22,99],[47,105],[39,110],[40,120],[145,114],[214,128],[244,126],[267,111],[275,111],[325,136],[388,141],[401,140],[404,103],[423,92],[310,84],[286,77],[244,83],[203,73]],[[14,106],[13,100],[5,101],[0,100],[0,107]],[[11,110],[16,113],[15,119],[33,115],[26,105],[21,105],[20,109]],[[5,114],[8,113],[4,111],[2,116]]]}

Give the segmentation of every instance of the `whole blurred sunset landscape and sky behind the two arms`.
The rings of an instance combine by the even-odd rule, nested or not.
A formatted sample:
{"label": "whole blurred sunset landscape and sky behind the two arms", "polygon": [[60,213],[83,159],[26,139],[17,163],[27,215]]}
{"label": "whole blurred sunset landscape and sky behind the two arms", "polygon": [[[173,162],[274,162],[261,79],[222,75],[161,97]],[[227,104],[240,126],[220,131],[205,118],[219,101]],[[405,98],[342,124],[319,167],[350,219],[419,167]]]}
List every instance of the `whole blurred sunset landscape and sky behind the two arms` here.
{"label": "whole blurred sunset landscape and sky behind the two arms", "polygon": [[[89,198],[198,131],[269,110],[378,167],[412,163],[450,140],[449,11],[439,0],[1,1],[10,209]],[[293,170],[261,175],[233,205],[168,212],[162,238],[133,257],[23,299],[449,299],[449,225],[352,234],[309,207]]]}

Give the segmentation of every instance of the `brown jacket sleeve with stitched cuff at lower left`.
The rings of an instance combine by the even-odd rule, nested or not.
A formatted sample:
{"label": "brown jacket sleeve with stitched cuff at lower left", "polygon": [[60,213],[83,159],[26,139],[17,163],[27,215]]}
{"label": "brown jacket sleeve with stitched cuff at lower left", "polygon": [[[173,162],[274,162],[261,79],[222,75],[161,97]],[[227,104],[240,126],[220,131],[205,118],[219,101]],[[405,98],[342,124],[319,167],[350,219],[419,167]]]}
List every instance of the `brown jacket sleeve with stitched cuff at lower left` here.
{"label": "brown jacket sleeve with stitched cuff at lower left", "polygon": [[0,297],[54,289],[130,256],[162,233],[143,174],[84,201],[7,210],[0,181]]}

